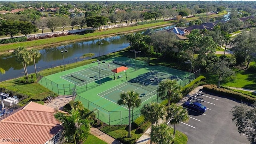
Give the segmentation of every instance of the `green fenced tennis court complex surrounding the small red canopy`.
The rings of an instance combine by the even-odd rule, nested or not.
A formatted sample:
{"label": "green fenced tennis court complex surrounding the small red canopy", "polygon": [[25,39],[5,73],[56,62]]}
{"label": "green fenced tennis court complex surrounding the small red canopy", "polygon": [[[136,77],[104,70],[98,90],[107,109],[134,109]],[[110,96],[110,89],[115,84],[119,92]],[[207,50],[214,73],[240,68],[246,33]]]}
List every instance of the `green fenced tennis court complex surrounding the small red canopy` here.
{"label": "green fenced tennis court complex surrounding the small red canopy", "polygon": [[[112,72],[120,66],[126,66],[128,69],[118,73]],[[158,82],[169,78],[184,86],[188,83],[189,76],[189,72],[164,66],[148,66],[140,60],[135,62],[135,59],[117,57],[100,64],[93,62],[45,76],[39,83],[59,95],[75,94],[75,100],[80,100],[84,107],[89,110],[96,109],[98,119],[110,125],[118,125],[128,124],[127,106],[117,104],[122,92],[134,90],[140,93],[142,104],[132,110],[133,121],[140,115],[144,104],[161,101],[157,97]],[[158,81],[154,77],[157,77]]]}

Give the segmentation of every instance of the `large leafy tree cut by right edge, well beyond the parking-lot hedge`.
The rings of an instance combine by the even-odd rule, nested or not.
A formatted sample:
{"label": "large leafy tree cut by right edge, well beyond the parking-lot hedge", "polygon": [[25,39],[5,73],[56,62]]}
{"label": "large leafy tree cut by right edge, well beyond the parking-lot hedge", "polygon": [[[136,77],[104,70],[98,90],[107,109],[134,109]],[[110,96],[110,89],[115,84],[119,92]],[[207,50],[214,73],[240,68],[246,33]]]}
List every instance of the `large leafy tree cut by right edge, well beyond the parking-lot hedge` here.
{"label": "large leafy tree cut by right edge, well beyond the parking-lot hedge", "polygon": [[248,68],[252,58],[256,57],[256,30],[251,30],[250,32],[242,32],[238,34],[231,44],[233,46],[232,51],[234,52],[237,62],[238,58],[241,58],[241,62],[247,61]]}

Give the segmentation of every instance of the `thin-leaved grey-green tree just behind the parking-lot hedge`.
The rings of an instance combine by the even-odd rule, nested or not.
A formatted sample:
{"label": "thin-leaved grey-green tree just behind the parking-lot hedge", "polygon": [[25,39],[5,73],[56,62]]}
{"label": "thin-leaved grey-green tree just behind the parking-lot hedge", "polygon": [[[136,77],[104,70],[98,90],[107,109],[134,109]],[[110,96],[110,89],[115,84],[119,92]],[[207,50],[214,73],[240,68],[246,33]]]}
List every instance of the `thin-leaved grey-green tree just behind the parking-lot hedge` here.
{"label": "thin-leaved grey-green tree just behind the parking-lot hedge", "polygon": [[216,63],[211,63],[206,70],[212,72],[218,76],[218,88],[220,88],[220,81],[224,80],[228,76],[234,75],[234,71],[229,67],[229,62],[224,60],[219,60]]}

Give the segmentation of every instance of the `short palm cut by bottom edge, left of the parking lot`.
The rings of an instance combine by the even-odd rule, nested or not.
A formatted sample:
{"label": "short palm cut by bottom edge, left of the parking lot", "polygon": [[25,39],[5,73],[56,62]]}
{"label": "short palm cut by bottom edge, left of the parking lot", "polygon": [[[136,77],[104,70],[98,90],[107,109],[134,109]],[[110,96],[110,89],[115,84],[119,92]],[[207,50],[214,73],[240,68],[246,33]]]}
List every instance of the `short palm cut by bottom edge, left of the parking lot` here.
{"label": "short palm cut by bottom edge, left of the parking lot", "polygon": [[153,126],[152,133],[152,141],[156,144],[171,144],[174,140],[172,128],[167,124]]}

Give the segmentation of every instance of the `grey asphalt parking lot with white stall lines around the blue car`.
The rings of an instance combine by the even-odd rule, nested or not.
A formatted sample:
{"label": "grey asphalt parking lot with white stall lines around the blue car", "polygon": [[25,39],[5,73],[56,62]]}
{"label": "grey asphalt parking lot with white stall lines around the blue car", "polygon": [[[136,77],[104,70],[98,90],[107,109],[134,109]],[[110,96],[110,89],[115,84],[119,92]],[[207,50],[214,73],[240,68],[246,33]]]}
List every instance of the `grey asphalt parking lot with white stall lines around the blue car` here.
{"label": "grey asphalt parking lot with white stall lines around the blue car", "polygon": [[188,109],[190,120],[177,124],[176,130],[188,136],[188,144],[249,144],[232,122],[230,111],[239,105],[236,100],[198,91],[188,100],[200,102],[207,110],[203,114]]}

